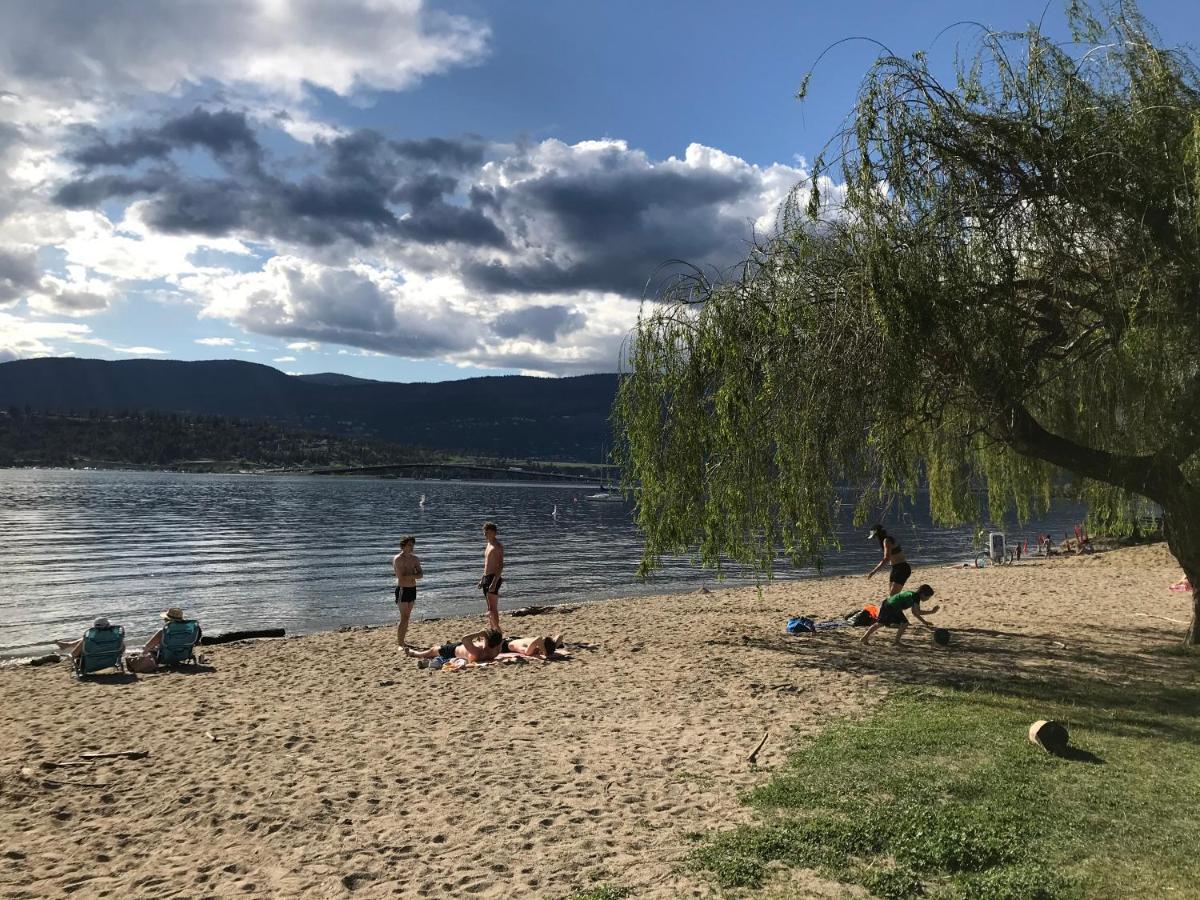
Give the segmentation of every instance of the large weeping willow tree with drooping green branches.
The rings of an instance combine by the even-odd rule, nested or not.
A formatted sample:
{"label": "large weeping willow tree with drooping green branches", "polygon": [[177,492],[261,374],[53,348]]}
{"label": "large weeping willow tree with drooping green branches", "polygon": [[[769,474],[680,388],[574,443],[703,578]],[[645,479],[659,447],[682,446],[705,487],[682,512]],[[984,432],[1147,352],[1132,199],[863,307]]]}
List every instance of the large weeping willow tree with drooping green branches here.
{"label": "large weeping willow tree with drooping green branches", "polygon": [[1200,611],[1200,79],[1135,10],[1068,22],[953,83],[881,53],[775,236],[647,305],[614,407],[644,570],[820,563],[845,484],[947,524],[1068,490],[1109,533],[1157,504]]}

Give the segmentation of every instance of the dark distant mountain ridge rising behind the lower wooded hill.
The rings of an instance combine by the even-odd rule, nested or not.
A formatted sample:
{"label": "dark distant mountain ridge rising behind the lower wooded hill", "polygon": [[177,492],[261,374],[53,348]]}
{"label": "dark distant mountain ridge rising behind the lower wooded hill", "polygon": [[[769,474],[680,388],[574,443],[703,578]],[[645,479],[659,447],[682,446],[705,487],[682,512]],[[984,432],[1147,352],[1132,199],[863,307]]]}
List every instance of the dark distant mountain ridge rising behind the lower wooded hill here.
{"label": "dark distant mountain ridge rising behind the lower wooded hill", "polygon": [[473,455],[599,462],[616,374],[401,384],[289,376],[241,360],[43,358],[0,364],[0,408],[252,419]]}

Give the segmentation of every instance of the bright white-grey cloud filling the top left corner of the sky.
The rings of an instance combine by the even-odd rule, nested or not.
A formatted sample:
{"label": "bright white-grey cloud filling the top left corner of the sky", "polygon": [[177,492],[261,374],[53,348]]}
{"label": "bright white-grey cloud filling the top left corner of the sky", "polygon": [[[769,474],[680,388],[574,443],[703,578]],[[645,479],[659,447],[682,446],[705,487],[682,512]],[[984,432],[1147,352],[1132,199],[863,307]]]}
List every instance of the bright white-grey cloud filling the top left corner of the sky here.
{"label": "bright white-grey cloud filling the top left corner of the sky", "polygon": [[488,29],[421,0],[38,0],[5,17],[6,88],[62,97],[166,92],[206,80],[300,96],[401,90],[469,65]]}

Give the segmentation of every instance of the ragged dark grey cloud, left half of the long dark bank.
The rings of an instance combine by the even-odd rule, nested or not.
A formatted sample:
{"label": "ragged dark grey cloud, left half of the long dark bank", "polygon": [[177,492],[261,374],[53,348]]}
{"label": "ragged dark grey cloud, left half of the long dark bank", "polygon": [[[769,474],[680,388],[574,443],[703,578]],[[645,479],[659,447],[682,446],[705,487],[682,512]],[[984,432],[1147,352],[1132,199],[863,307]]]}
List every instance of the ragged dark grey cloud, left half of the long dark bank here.
{"label": "ragged dark grey cloud, left half of the long dark bank", "polygon": [[[193,148],[221,162],[224,176],[200,179],[166,164],[170,150]],[[361,130],[319,142],[314,154],[318,172],[283,178],[260,164],[262,146],[242,114],[196,109],[120,142],[94,137],[72,156],[86,168],[128,168],[148,158],[163,167],[143,175],[80,178],[62,185],[55,200],[80,209],[142,194],[149,198],[146,221],[170,234],[236,232],[314,247],[338,240],[371,246],[383,236],[422,245],[504,245],[503,233],[480,209],[446,200],[460,173],[482,161],[478,139],[389,140]]]}

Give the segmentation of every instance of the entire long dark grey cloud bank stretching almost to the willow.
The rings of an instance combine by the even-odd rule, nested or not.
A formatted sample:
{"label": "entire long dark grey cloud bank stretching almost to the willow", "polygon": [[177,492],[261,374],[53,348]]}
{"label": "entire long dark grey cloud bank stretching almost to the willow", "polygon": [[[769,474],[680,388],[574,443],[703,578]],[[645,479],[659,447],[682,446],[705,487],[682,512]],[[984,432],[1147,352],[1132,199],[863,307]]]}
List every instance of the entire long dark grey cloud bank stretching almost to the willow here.
{"label": "entire long dark grey cloud bank stretching almost to the willow", "polygon": [[[198,148],[218,176],[172,158]],[[74,154],[89,172],[56,200],[79,209],[144,197],[145,221],[170,234],[385,241],[400,258],[406,246],[454,247],[438,264],[481,292],[638,296],[665,260],[721,268],[744,256],[749,220],[769,194],[763,170],[703,148],[659,163],[617,142],[498,150],[474,137],[392,140],[364,128],[318,140],[290,174],[270,164],[245,115],[198,108],[115,142],[94,133]],[[131,170],[146,161],[155,168]],[[90,172],[101,166],[125,172]]]}

